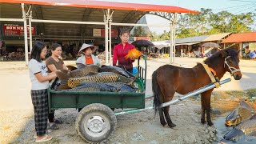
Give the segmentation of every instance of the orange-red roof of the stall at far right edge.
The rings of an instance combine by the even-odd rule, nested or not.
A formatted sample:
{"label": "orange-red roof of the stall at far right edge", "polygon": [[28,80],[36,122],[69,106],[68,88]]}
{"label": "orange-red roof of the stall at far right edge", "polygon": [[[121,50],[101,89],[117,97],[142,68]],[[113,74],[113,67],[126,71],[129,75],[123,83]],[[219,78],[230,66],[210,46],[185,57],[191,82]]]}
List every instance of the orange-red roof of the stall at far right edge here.
{"label": "orange-red roof of the stall at far right edge", "polygon": [[231,34],[230,37],[222,41],[222,43],[233,42],[256,42],[256,32]]}

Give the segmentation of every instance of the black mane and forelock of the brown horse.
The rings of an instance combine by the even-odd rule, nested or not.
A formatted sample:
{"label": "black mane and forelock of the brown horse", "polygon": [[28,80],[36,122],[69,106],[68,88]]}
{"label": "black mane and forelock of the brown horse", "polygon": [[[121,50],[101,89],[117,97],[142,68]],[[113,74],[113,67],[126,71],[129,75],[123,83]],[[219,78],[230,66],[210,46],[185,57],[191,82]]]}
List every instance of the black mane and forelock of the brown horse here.
{"label": "black mane and forelock of the brown horse", "polygon": [[[226,48],[223,49],[222,51],[226,52],[226,56],[230,56],[230,57],[238,57],[238,53],[236,50],[232,49],[232,48]],[[211,55],[209,58],[206,58],[206,60],[204,61],[204,63],[206,63],[208,66],[211,67],[216,67],[219,64],[219,60],[220,58],[222,58],[222,52],[218,51],[215,54]]]}

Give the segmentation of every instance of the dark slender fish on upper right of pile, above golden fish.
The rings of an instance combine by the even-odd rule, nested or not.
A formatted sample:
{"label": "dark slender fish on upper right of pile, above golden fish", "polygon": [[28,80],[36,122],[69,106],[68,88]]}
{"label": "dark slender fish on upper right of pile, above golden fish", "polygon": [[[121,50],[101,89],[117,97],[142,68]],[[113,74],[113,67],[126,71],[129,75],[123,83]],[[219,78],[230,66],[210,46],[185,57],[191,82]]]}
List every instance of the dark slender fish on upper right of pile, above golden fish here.
{"label": "dark slender fish on upper right of pile, above golden fish", "polygon": [[121,74],[123,76],[126,76],[127,78],[134,78],[133,74],[130,74],[129,72],[127,72],[126,70],[123,70],[120,67],[117,66],[105,66],[103,65],[98,72],[112,72],[112,73],[116,73],[116,74]]}

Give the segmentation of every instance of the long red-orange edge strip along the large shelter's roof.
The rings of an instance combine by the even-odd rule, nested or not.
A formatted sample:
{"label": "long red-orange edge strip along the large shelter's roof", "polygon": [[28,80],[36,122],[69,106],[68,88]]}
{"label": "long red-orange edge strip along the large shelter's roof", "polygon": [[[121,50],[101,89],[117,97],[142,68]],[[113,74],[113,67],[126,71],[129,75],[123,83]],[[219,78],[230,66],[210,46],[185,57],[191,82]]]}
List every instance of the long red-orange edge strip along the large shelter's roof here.
{"label": "long red-orange edge strip along the large shelter's roof", "polygon": [[88,7],[98,9],[113,9],[113,10],[138,10],[138,11],[159,11],[169,13],[190,13],[198,14],[198,11],[184,9],[178,6],[163,6],[138,3],[124,2],[103,2],[92,0],[0,0],[6,3],[26,3],[35,5],[48,6],[73,6],[73,7]]}

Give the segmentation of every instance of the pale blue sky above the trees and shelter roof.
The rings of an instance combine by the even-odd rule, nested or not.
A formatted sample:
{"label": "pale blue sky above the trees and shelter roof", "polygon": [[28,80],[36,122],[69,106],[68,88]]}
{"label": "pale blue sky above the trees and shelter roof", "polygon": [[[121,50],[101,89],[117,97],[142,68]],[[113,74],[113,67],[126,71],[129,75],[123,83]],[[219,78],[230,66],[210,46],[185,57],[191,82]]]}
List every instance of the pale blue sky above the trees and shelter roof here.
{"label": "pale blue sky above the trees and shelter roof", "polygon": [[[109,2],[129,2],[129,3],[144,3],[166,6],[180,6],[189,10],[212,9],[214,13],[222,10],[227,10],[233,14],[241,14],[247,12],[256,12],[256,0],[101,0]],[[158,16],[147,14],[146,21],[150,25],[168,25],[169,21]],[[163,30],[169,30],[168,27],[162,28],[150,26],[151,31],[162,34]]]}

